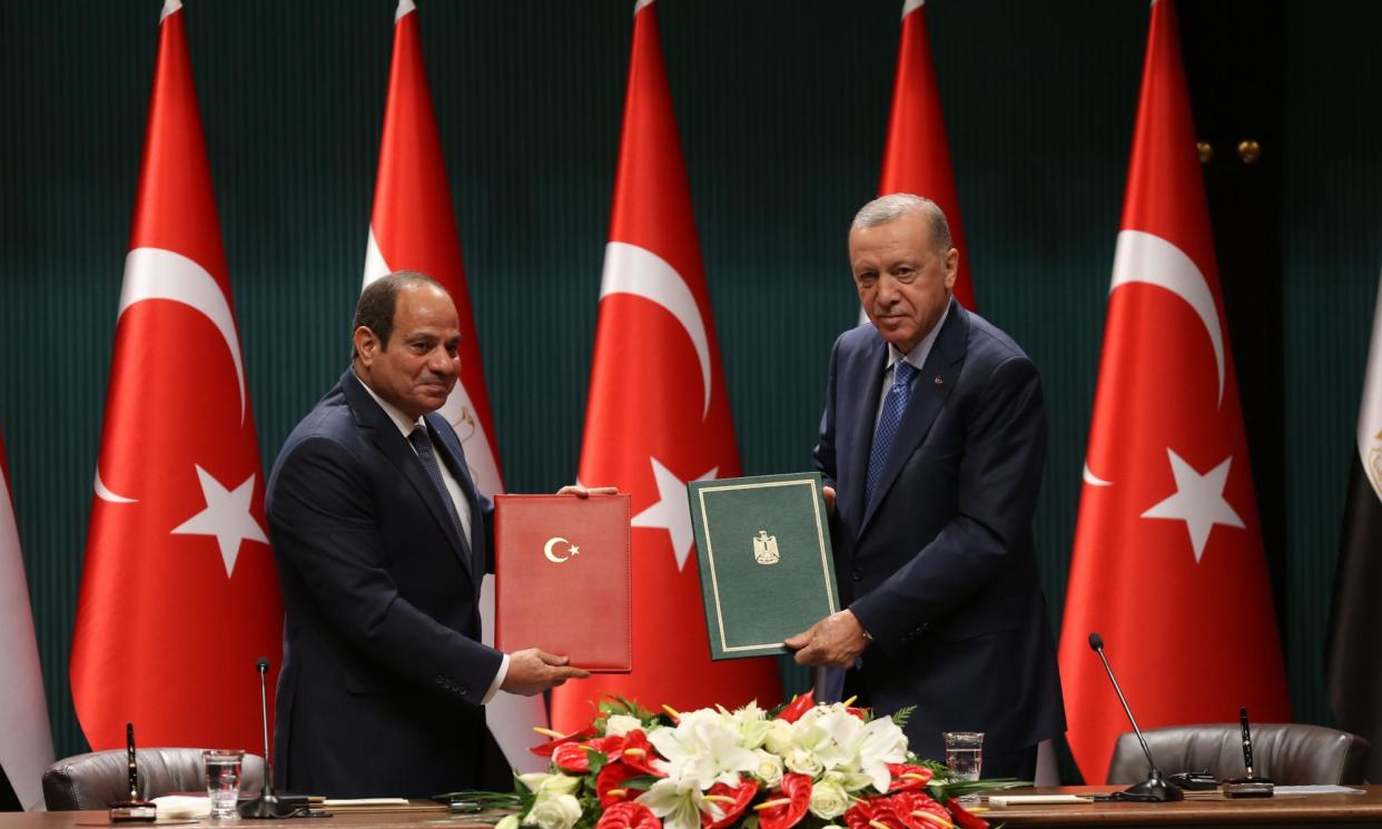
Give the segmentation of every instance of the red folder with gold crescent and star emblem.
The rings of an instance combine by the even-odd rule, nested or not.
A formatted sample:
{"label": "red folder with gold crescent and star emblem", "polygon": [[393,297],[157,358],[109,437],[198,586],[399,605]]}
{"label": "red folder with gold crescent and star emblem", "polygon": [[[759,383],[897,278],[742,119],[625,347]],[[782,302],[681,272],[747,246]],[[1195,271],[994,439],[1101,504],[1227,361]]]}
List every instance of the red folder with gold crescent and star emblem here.
{"label": "red folder with gold crescent and star emblem", "polygon": [[629,496],[495,496],[495,647],[633,670]]}

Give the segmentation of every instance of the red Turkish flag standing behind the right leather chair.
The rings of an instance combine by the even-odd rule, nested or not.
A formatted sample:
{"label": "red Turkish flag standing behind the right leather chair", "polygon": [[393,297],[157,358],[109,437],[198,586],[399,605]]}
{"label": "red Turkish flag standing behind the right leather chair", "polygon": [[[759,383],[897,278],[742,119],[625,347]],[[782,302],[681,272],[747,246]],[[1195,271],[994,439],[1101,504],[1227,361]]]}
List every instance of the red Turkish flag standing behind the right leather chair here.
{"label": "red Turkish flag standing behind the right leather chair", "polygon": [[1090,631],[1143,728],[1291,718],[1172,0],[1151,7],[1060,640],[1097,782],[1129,725]]}

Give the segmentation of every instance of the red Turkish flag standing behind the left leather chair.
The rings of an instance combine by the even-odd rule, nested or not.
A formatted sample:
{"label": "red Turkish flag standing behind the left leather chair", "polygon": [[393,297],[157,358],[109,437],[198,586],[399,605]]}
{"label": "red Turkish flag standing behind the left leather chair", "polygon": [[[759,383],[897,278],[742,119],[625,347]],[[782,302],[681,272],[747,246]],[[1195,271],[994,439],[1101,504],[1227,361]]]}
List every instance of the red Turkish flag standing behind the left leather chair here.
{"label": "red Turkish flag standing behind the left leather chair", "polygon": [[[283,609],[181,4],[163,6],[72,641],[93,749],[261,745]],[[269,713],[272,720],[272,712]]]}

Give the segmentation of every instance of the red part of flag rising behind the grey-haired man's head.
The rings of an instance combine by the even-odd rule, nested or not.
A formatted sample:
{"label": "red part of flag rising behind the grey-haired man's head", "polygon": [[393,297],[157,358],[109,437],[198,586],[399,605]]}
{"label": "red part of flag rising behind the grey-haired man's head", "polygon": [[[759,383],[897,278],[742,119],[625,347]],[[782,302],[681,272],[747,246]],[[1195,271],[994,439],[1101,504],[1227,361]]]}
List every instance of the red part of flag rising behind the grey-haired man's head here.
{"label": "red part of flag rising behind the grey-haired man's head", "polygon": [[931,69],[931,44],[926,33],[926,3],[902,3],[902,40],[897,48],[897,79],[893,82],[893,113],[887,120],[883,151],[883,178],[878,193],[914,193],[936,202],[949,222],[951,239],[959,250],[955,297],[974,308],[974,285],[969,275],[969,247],[959,221],[959,193],[949,166],[949,144],[941,117],[941,97]]}

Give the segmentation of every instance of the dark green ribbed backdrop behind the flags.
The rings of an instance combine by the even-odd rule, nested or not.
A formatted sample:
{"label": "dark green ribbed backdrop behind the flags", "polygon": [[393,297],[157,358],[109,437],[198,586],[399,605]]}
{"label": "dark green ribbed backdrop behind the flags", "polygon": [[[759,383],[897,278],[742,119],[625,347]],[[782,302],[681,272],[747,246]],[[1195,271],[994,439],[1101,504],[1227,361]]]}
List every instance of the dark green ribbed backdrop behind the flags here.
{"label": "dark green ribbed backdrop behind the flags", "polygon": [[[419,6],[504,475],[553,490],[578,463],[633,3]],[[59,756],[84,747],[68,652],[159,7],[0,4],[0,428]],[[844,229],[878,182],[900,7],[658,1],[746,473],[810,466],[826,355],[857,315]],[[927,14],[980,311],[1045,377],[1036,529],[1059,629],[1147,3]],[[1320,652],[1382,268],[1382,21],[1339,0],[1280,15],[1265,51],[1282,146],[1266,152],[1284,198],[1260,232],[1284,250],[1284,315],[1260,325],[1284,339],[1287,441],[1253,464],[1285,470],[1282,641],[1298,718],[1327,723]],[[187,4],[265,468],[344,366],[392,19],[391,0]],[[1233,642],[1193,616],[1161,633]]]}

